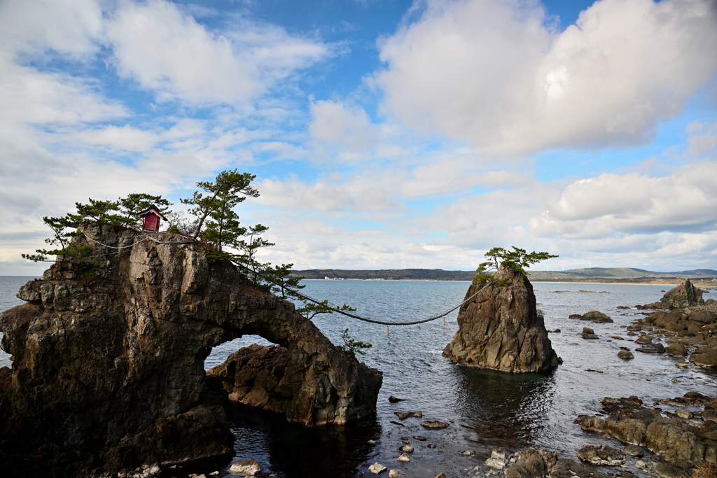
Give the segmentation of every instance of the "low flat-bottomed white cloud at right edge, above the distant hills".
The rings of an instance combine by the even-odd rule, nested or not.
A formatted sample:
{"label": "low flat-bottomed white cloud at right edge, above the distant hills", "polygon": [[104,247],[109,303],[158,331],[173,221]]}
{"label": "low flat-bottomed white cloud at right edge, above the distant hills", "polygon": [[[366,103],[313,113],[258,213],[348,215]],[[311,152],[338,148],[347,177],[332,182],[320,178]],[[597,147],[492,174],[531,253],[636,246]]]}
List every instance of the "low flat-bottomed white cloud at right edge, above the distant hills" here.
{"label": "low flat-bottomed white cloud at right edge, above the distant hills", "polygon": [[595,238],[717,226],[717,161],[683,166],[671,176],[602,173],[569,184],[530,221],[538,236]]}

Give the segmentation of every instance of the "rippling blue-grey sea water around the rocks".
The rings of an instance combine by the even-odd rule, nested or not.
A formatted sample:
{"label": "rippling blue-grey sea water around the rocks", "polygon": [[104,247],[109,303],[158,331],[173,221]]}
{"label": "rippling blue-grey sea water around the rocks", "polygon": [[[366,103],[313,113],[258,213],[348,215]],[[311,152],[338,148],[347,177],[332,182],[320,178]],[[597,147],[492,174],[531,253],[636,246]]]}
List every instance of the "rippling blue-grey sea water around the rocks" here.
{"label": "rippling blue-grey sea water around the rocks", "polygon": [[[0,277],[0,310],[22,303],[14,295],[29,279]],[[304,284],[303,292],[311,297],[336,305],[346,303],[365,317],[397,322],[449,310],[464,299],[470,285],[388,280],[311,280]],[[637,347],[632,342],[636,337],[628,336],[625,328],[645,313],[617,307],[655,302],[673,286],[536,282],[533,287],[553,348],[563,359],[549,373],[498,373],[451,363],[442,350],[457,331],[457,311],[447,315],[445,324],[438,319],[392,326],[388,334],[383,325],[336,313],[318,315],[313,322],[333,343],[343,344],[341,333],[346,329],[355,340],[371,343],[361,360],[384,373],[376,415],[356,424],[308,429],[262,411],[232,408],[229,419],[237,437],[232,462],[255,459],[262,476],[276,477],[368,477],[368,467],[375,462],[401,469],[406,477],[434,478],[440,472],[448,477],[474,477],[479,473],[475,467],[485,474],[483,463],[495,448],[510,454],[533,446],[556,450],[571,459],[576,459],[576,451],[584,443],[621,448],[618,441],[584,433],[574,423],[579,414],[598,413],[604,397],[636,395],[651,405],[688,391],[717,395],[716,374],[708,369],[680,369],[675,358],[637,351],[633,360],[617,357],[621,346]],[[604,312],[614,322],[568,318],[591,310]],[[599,340],[581,338],[586,326]],[[269,344],[249,335],[223,343],[206,358],[205,368],[219,365],[251,343]],[[1,355],[0,366],[10,366],[9,355]],[[389,396],[404,401],[391,403]],[[422,419],[402,421],[394,414],[418,410]],[[420,426],[422,420],[445,421],[450,426],[426,430]],[[399,448],[407,443],[415,451],[411,461],[402,464],[397,461]],[[229,464],[217,469],[219,476],[233,476]],[[630,471],[642,474],[634,459],[627,465]]]}

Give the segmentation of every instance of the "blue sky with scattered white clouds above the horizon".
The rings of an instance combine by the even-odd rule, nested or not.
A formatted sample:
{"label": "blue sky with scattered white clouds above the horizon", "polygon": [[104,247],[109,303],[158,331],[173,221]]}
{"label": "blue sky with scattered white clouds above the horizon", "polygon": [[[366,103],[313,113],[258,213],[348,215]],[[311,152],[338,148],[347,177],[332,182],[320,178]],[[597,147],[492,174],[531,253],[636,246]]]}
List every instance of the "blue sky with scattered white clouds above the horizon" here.
{"label": "blue sky with scattered white clouds above the horizon", "polygon": [[236,168],[295,269],[717,269],[712,0],[0,0],[0,275]]}

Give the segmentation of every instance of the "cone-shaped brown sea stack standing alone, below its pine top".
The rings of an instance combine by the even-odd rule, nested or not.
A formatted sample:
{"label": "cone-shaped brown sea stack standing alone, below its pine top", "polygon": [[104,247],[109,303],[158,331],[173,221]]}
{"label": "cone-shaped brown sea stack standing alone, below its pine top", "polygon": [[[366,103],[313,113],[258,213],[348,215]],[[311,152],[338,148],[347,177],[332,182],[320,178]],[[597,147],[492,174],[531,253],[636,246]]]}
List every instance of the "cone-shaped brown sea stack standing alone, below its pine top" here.
{"label": "cone-shaped brown sea stack standing alone, below its pine top", "polygon": [[[536,310],[530,281],[507,267],[497,277],[505,285],[494,283],[460,307],[458,331],[443,355],[464,365],[514,373],[556,367],[560,359]],[[486,282],[473,279],[466,299]]]}

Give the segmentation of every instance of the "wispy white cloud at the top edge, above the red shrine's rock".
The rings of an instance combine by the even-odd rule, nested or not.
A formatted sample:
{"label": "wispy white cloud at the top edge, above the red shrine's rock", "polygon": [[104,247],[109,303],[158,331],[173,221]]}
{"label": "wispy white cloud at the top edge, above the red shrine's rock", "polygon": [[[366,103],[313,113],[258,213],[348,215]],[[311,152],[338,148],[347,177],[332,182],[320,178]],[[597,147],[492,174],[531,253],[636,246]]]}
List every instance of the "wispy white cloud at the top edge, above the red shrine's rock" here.
{"label": "wispy white cloud at the top edge, above the red shrine's rock", "polygon": [[248,21],[215,33],[168,1],[125,3],[107,25],[120,75],[160,100],[237,103],[330,54],[328,46]]}

